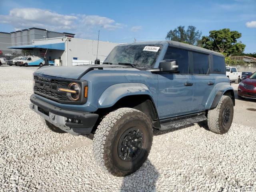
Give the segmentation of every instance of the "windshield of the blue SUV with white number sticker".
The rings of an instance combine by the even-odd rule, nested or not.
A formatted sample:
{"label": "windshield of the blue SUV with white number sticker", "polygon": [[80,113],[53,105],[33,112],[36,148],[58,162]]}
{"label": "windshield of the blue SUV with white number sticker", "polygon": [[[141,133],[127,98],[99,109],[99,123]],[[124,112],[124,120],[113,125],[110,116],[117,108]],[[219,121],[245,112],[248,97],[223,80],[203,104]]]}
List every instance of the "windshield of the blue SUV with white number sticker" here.
{"label": "windshield of the blue SUV with white number sticker", "polygon": [[133,64],[138,68],[152,68],[162,45],[128,45],[115,47],[104,63],[118,65],[121,63]]}

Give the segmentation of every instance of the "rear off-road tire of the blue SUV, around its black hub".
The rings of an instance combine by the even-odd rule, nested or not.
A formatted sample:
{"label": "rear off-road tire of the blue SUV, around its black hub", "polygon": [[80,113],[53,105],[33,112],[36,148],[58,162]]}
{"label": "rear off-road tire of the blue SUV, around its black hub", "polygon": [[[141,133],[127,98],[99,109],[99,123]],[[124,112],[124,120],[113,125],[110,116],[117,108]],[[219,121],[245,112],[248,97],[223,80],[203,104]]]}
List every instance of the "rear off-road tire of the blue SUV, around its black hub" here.
{"label": "rear off-road tire of the blue SUV, around its black hub", "polygon": [[[226,107],[230,108],[230,119],[224,125],[223,114]],[[232,99],[229,96],[222,96],[216,108],[209,110],[207,115],[207,123],[210,131],[218,134],[228,132],[233,121],[234,106]]]}

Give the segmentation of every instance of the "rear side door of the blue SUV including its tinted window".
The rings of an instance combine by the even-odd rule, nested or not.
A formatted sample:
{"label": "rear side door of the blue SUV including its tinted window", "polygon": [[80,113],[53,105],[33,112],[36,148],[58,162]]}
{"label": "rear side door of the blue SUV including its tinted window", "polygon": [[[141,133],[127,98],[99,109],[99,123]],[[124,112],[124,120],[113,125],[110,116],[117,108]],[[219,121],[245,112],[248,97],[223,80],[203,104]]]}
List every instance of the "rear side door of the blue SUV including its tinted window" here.
{"label": "rear side door of the blue SUV including its tinted window", "polygon": [[210,75],[210,55],[190,52],[194,78],[194,110],[203,111],[210,92],[214,88],[214,76]]}

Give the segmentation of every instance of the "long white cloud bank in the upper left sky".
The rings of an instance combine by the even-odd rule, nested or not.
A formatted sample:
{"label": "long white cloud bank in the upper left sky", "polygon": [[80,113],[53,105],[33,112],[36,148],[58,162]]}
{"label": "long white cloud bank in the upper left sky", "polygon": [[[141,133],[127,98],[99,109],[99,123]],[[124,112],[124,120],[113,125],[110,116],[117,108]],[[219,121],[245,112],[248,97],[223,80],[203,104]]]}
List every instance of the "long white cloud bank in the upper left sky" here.
{"label": "long white cloud bank in the upper left sky", "polygon": [[[38,8],[14,8],[8,15],[0,15],[0,23],[10,24],[15,29],[31,27],[47,28],[48,30],[89,31],[92,28],[116,30],[126,25],[98,15],[64,15]],[[87,33],[85,32],[85,34]]]}

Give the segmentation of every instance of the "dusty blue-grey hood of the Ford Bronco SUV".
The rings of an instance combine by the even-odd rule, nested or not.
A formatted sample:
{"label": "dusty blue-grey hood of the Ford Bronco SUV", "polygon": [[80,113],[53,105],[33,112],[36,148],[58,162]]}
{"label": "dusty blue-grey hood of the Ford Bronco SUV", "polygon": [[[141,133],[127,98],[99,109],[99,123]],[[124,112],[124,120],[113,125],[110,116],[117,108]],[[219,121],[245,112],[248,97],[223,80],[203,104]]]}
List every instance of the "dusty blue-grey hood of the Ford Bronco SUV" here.
{"label": "dusty blue-grey hood of the Ford Bronco SUV", "polygon": [[103,70],[138,70],[129,66],[121,65],[78,65],[78,66],[43,66],[38,68],[34,74],[56,76],[61,78],[78,79],[93,68],[103,68]]}

